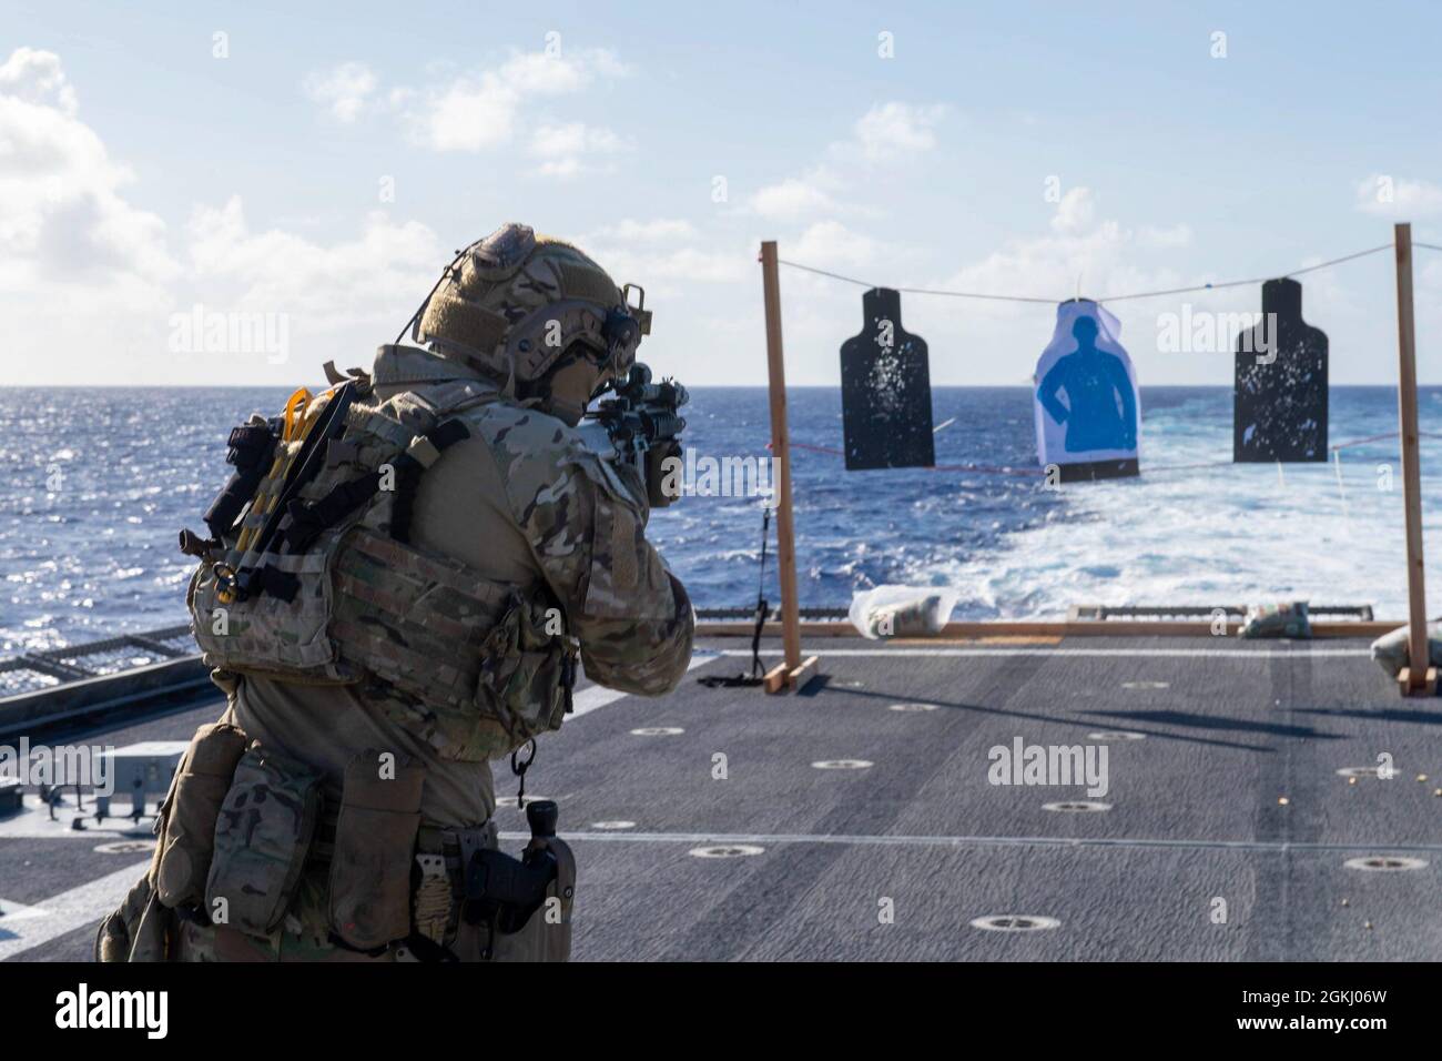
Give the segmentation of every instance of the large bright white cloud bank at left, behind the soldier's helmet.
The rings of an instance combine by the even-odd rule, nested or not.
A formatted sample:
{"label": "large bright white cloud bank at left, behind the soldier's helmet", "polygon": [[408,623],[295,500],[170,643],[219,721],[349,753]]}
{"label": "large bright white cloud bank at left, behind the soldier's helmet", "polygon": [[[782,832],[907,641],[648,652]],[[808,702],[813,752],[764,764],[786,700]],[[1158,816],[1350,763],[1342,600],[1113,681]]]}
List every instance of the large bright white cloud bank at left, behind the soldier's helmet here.
{"label": "large bright white cloud bank at left, behind the soldier's helmet", "polygon": [[[78,111],[56,56],[20,49],[0,66],[0,315],[59,352],[9,358],[10,383],[311,378],[326,358],[368,359],[448,260],[425,225],[384,214],[336,243],[252,231],[239,198],[169,232],[125,198],[133,175]],[[293,362],[170,352],[172,315],[196,303],[286,315]]]}

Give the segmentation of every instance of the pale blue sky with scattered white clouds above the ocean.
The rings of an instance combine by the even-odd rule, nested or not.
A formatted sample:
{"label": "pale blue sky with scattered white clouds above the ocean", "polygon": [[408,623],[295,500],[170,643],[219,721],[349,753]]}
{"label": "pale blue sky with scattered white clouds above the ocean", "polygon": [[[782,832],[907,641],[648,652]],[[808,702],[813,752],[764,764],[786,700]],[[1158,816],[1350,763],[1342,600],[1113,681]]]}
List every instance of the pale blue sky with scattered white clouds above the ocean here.
{"label": "pale blue sky with scattered white clouds above the ocean", "polygon": [[[0,384],[368,365],[506,221],[642,286],[692,385],[766,383],[763,240],[1047,300],[1442,245],[1439,40],[1426,3],[0,0]],[[1332,384],[1393,383],[1392,254],[1302,281]],[[862,290],[783,268],[787,383],[839,381]],[[1226,385],[1260,292],[1109,305],[1142,385]],[[1416,313],[1442,383],[1442,253]],[[1053,319],[903,297],[937,385],[1028,381]]]}

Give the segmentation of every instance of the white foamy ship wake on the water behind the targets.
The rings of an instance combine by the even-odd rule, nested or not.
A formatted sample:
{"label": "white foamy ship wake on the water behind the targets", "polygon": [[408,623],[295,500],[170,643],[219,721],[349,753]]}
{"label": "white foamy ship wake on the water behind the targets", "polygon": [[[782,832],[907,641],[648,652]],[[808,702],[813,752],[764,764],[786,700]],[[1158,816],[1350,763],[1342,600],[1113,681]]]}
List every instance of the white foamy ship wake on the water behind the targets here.
{"label": "white foamy ship wake on the water behind the targets", "polygon": [[[1338,481],[1331,463],[1285,465],[1280,476],[1276,465],[1227,463],[1230,429],[1168,424],[1146,443],[1141,478],[1069,484],[1067,518],[1009,534],[970,559],[919,566],[917,580],[962,588],[957,619],[1060,618],[1073,603],[1270,599],[1370,603],[1377,618],[1406,618],[1394,455],[1344,452]],[[1425,439],[1422,468],[1438,468],[1439,459],[1442,445]],[[1164,469],[1208,460],[1218,466]],[[1386,485],[1379,465],[1390,466],[1390,489],[1379,489]],[[1423,498],[1438,488],[1442,476],[1425,475]],[[1428,580],[1442,586],[1442,514],[1425,510],[1423,528],[1433,543]]]}

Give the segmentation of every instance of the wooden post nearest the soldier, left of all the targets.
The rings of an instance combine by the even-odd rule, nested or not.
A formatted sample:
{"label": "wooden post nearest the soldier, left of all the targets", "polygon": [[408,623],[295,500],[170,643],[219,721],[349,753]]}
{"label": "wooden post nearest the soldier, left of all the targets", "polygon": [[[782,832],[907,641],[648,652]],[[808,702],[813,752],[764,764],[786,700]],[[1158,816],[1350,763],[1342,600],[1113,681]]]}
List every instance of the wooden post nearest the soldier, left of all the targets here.
{"label": "wooden post nearest the soldier, left of all the targets", "polygon": [[776,241],[761,244],[761,289],[766,300],[766,361],[770,368],[771,459],[776,462],[776,556],[782,585],[782,647],[786,661],[766,676],[766,691],[796,689],[816,660],[802,664],[802,624],[796,601],[796,537],[792,521],[792,452],[786,429],[786,362],[782,355],[782,284]]}

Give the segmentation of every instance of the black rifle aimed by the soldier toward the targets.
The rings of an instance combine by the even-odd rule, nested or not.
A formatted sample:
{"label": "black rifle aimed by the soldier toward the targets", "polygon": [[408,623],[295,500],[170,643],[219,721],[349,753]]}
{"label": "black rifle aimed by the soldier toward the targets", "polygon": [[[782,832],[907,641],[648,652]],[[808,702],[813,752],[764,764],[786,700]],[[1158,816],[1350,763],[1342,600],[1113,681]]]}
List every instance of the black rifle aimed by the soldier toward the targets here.
{"label": "black rifle aimed by the soldier toward the targets", "polygon": [[665,462],[681,458],[686,422],[678,410],[691,396],[675,380],[652,383],[650,368],[640,361],[610,390],[616,397],[587,410],[580,432],[601,458],[634,468],[652,507],[663,508],[679,495],[663,489]]}

